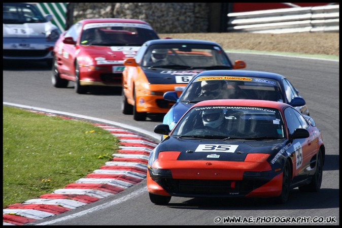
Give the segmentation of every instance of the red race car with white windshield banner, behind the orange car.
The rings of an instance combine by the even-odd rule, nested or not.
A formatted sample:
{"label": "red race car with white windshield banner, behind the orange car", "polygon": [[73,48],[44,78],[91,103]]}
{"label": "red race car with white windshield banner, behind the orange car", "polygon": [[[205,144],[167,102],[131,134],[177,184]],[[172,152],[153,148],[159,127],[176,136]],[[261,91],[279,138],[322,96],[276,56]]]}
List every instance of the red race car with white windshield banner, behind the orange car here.
{"label": "red race car with white windshield banner, behind the orange car", "polygon": [[52,85],[65,88],[74,81],[77,93],[88,92],[89,86],[122,86],[123,60],[156,39],[156,31],[142,20],[81,20],[55,44]]}

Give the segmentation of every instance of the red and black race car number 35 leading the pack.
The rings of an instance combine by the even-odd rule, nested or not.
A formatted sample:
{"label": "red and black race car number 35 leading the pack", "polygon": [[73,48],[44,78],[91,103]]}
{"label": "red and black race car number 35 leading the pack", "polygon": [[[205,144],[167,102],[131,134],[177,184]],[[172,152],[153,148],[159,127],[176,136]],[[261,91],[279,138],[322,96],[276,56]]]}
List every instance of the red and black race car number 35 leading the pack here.
{"label": "red and black race car number 35 leading the pack", "polygon": [[314,120],[292,106],[261,100],[209,100],[192,106],[150,153],[154,204],[172,197],[269,198],[292,188],[319,191],[325,146]]}

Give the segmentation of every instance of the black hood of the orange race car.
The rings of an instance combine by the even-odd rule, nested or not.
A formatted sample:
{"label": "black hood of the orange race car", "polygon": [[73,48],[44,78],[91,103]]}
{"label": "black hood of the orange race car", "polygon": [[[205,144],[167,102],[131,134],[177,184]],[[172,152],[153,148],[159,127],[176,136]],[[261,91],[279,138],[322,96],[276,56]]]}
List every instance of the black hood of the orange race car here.
{"label": "black hood of the orange race car", "polygon": [[[204,70],[192,69],[167,69],[167,68],[145,68],[142,67],[145,76],[150,84],[177,84],[176,76],[196,76]],[[179,82],[178,82],[179,83]],[[187,84],[187,82],[184,82]]]}

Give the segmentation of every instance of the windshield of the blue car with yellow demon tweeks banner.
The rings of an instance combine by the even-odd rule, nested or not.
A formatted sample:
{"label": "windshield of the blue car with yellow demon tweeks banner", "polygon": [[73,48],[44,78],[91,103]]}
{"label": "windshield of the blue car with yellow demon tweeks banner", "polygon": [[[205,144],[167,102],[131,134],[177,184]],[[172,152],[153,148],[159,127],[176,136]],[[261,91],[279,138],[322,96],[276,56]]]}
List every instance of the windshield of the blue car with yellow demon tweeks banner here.
{"label": "windshield of the blue car with yellow demon tweeks banner", "polygon": [[184,103],[214,99],[284,101],[278,81],[236,76],[198,77],[185,88],[180,97],[180,101]]}

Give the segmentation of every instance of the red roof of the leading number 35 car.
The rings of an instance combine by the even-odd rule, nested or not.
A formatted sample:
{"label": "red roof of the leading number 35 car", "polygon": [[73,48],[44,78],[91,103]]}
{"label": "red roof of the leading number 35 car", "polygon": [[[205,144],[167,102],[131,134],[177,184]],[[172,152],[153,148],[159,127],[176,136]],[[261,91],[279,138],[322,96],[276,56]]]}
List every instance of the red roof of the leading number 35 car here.
{"label": "red roof of the leading number 35 car", "polygon": [[285,107],[291,107],[290,105],[283,102],[273,102],[265,100],[244,100],[244,99],[225,99],[225,100],[207,100],[198,102],[191,107],[198,106],[251,106],[251,107],[264,107],[264,108],[275,108],[282,110]]}

